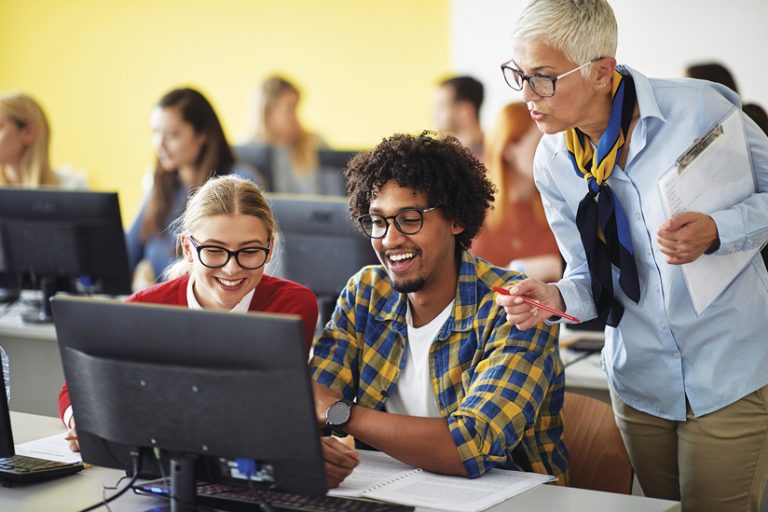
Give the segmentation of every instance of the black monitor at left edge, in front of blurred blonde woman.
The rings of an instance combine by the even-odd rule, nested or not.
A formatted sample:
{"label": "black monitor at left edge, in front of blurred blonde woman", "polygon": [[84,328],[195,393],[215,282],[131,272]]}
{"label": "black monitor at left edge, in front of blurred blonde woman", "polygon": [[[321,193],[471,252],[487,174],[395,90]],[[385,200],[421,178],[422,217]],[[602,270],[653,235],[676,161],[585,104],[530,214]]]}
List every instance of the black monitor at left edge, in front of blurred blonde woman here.
{"label": "black monitor at left edge, in front of blurred blonde woman", "polygon": [[50,322],[57,291],[131,292],[131,274],[114,192],[0,188],[0,288],[40,289]]}

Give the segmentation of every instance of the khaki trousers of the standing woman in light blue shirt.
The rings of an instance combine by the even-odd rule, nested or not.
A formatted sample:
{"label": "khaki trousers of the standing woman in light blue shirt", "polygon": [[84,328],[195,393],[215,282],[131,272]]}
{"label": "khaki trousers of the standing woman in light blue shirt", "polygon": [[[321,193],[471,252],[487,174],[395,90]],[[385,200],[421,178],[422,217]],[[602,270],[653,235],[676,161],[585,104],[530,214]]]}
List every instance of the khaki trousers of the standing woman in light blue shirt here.
{"label": "khaki trousers of the standing woman in light blue shirt", "polygon": [[698,418],[689,406],[686,421],[640,412],[613,390],[611,402],[646,496],[680,500],[683,512],[760,512],[768,482],[768,386]]}

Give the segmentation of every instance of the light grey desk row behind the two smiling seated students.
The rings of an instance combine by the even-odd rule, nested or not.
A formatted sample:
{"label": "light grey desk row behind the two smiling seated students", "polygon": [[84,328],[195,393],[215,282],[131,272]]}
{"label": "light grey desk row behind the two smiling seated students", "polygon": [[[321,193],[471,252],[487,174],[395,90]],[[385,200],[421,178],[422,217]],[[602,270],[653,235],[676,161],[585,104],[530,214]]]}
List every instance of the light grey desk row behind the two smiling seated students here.
{"label": "light grey desk row behind the two smiling seated students", "polygon": [[[0,346],[8,353],[11,363],[11,410],[58,416],[57,397],[64,382],[64,373],[56,344],[56,331],[50,324],[22,323],[20,311],[20,307],[13,307],[0,316]],[[563,329],[561,343],[567,343],[573,336],[599,337],[600,334]],[[581,353],[562,350],[566,364],[580,356]],[[570,391],[610,403],[599,354],[569,365],[566,368],[566,387]]]}

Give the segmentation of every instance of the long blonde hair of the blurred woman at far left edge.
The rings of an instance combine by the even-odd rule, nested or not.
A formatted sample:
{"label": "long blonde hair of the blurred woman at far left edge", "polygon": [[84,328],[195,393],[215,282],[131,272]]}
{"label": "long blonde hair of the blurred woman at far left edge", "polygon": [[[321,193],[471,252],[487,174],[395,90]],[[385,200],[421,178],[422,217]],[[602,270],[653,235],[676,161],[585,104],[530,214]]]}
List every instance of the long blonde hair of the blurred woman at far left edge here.
{"label": "long blonde hair of the blurred woman at far left edge", "polygon": [[[48,156],[51,129],[40,104],[26,94],[6,94],[0,96],[0,114],[10,117],[20,129],[29,126],[35,131],[32,144],[24,149],[21,157],[18,169],[21,186],[58,185],[59,180],[51,169]],[[5,164],[0,164],[0,185],[9,184],[5,177]]]}

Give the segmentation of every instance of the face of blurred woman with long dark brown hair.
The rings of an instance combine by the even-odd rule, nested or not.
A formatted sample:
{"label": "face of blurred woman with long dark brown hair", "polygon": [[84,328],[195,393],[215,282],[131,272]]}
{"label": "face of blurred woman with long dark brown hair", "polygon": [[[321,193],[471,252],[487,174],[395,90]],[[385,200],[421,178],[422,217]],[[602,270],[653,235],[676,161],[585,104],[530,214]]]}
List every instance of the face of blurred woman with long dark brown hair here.
{"label": "face of blurred woman with long dark brown hair", "polygon": [[205,144],[205,134],[196,133],[178,108],[155,107],[150,126],[152,146],[163,170],[174,171],[195,165]]}

